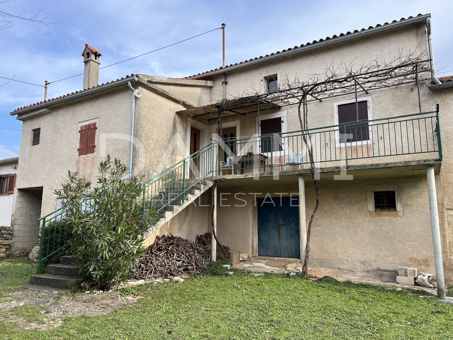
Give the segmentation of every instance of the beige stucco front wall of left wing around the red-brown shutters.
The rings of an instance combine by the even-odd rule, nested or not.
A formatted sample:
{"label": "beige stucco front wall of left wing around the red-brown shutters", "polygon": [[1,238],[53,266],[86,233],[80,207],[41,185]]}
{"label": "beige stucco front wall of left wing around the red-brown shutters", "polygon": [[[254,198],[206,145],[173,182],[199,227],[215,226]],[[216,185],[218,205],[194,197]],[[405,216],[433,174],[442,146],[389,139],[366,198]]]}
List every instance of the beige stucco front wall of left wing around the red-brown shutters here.
{"label": "beige stucco front wall of left wing around the red-brown shutters", "polygon": [[[57,196],[53,194],[53,190],[65,180],[67,170],[78,169],[81,175],[94,179],[96,169],[106,153],[127,164],[130,107],[130,90],[122,87],[51,106],[50,112],[24,119],[19,151],[19,157],[23,161],[19,167],[15,192],[28,188],[42,190],[43,216],[55,210]],[[97,127],[96,151],[78,156],[79,125],[91,120],[96,121]],[[41,128],[40,141],[39,145],[32,146],[32,130],[36,128]],[[102,141],[105,141],[105,150],[101,150]],[[14,197],[13,219],[19,219],[20,215],[15,215],[15,205]]]}

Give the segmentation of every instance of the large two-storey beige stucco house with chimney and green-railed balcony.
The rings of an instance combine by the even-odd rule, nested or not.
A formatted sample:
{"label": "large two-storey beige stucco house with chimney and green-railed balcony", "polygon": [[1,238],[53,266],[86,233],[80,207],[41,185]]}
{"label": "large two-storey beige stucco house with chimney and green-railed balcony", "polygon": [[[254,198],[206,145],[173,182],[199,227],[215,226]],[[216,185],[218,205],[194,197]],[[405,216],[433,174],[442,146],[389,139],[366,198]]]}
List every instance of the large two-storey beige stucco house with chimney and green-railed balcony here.
{"label": "large two-storey beige stucco house with chimney and green-railed balcony", "polygon": [[[94,175],[96,165],[107,153],[129,163],[132,130],[132,169],[150,178],[170,167],[156,177],[159,180],[149,182],[164,196],[159,199],[164,202],[159,208],[167,213],[164,225],[149,235],[147,244],[159,233],[194,239],[210,230],[211,190],[207,187],[220,166],[216,212],[219,240],[249,256],[303,256],[302,240],[315,200],[297,105],[262,100],[239,106],[230,102],[222,107],[222,100],[228,102],[253,91],[279,91],[284,79],[308,78],[334,62],[360,65],[376,56],[391,59],[401,51],[414,50],[432,60],[429,43],[430,15],[418,15],[188,78],[132,74],[98,86],[91,85],[97,83],[101,53],[86,45],[83,83],[89,88],[11,112],[23,121],[12,251],[30,249],[37,243],[36,224],[29,225],[34,240],[17,234],[24,219],[30,219],[20,210],[28,208],[25,202],[32,208],[34,197],[42,195],[41,210],[34,211],[36,217],[44,216],[58,207],[53,188],[68,169]],[[432,74],[433,78],[429,72],[426,80],[422,77],[425,72],[418,84],[408,76],[398,87],[367,88],[366,92],[359,87],[357,101],[350,93],[322,101],[313,96],[308,121],[310,128],[317,128],[313,136],[319,138],[315,156],[320,205],[312,230],[312,265],[368,272],[384,280],[394,280],[399,266],[434,273],[426,177],[427,169],[434,169],[443,267],[447,282],[453,282],[453,206],[449,203],[453,183],[448,176],[453,166],[453,83],[435,78],[434,67]],[[420,107],[428,113],[420,114]],[[220,159],[214,160],[217,151],[211,139],[216,141],[218,110],[223,111],[221,137],[226,147]],[[348,122],[357,124],[346,128]],[[357,132],[362,122],[366,127],[359,127]],[[404,124],[409,124],[405,130]],[[244,151],[245,145],[251,149]],[[345,150],[351,153],[347,156],[347,176],[353,178],[336,177],[343,175]],[[169,202],[169,188],[163,189],[170,182],[167,175],[198,186],[187,190],[187,199],[185,189],[171,196],[182,202]],[[200,178],[207,182],[195,181]],[[149,198],[156,199],[150,192]],[[267,198],[280,204],[261,209]]]}

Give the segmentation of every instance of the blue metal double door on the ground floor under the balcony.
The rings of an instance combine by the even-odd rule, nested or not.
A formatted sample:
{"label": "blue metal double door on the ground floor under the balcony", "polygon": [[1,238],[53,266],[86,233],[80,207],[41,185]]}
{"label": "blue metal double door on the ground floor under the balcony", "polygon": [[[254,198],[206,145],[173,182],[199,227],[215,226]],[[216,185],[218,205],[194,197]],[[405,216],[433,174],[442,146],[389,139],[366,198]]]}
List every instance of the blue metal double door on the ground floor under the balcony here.
{"label": "blue metal double door on the ground floor under the balcony", "polygon": [[300,258],[299,200],[257,199],[258,255]]}

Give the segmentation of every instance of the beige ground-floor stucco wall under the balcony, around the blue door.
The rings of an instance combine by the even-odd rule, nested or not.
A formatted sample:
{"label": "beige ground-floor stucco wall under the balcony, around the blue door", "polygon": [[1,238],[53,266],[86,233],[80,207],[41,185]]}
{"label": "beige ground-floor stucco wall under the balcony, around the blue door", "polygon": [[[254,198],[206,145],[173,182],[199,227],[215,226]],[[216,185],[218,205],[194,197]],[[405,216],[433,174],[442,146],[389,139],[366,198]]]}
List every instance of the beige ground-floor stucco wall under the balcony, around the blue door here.
{"label": "beige ground-floor stucco wall under the balcony, around the blue door", "polygon": [[[278,181],[275,181],[278,182]],[[307,223],[315,205],[311,178],[305,179]],[[369,216],[366,185],[402,185],[403,217]],[[387,277],[398,266],[434,272],[429,201],[424,176],[319,180],[319,208],[313,221],[310,263]],[[221,243],[258,255],[256,197],[299,195],[298,182],[281,185],[257,180],[256,185],[218,187],[217,233]],[[244,194],[238,194],[244,193]],[[254,194],[251,194],[254,193]],[[235,198],[246,200],[245,204]],[[223,198],[222,204],[220,199]],[[278,200],[277,200],[278,201]],[[227,206],[231,205],[231,206]]]}

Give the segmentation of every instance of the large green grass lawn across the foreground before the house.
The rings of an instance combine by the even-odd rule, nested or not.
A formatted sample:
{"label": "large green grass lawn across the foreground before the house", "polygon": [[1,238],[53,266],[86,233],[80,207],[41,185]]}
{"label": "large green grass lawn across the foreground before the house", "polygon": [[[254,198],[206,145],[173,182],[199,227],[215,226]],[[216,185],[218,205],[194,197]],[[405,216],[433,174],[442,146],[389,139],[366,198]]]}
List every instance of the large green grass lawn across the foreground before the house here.
{"label": "large green grass lawn across the foreground before the house", "polygon": [[199,276],[122,291],[136,306],[65,319],[60,327],[0,324],[0,339],[449,339],[453,305],[382,287],[300,277]]}

